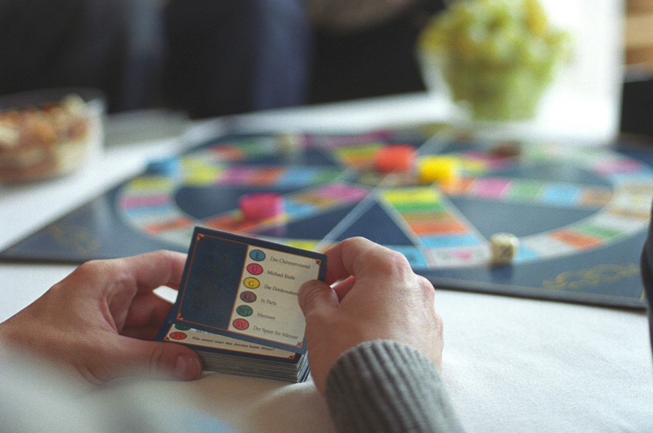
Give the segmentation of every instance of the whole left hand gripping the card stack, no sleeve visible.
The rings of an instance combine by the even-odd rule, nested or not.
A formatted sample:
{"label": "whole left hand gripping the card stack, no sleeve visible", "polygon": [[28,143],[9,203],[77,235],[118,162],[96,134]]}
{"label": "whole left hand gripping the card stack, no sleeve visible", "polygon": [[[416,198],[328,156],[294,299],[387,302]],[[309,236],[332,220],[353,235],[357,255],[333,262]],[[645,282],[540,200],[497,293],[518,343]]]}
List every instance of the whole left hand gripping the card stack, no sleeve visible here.
{"label": "whole left hand gripping the card stack, no sleeve visible", "polygon": [[202,372],[197,353],[180,344],[146,341],[170,310],[153,290],[176,289],[185,258],[157,251],[88,261],[0,323],[0,342],[92,383],[131,375],[196,379]]}

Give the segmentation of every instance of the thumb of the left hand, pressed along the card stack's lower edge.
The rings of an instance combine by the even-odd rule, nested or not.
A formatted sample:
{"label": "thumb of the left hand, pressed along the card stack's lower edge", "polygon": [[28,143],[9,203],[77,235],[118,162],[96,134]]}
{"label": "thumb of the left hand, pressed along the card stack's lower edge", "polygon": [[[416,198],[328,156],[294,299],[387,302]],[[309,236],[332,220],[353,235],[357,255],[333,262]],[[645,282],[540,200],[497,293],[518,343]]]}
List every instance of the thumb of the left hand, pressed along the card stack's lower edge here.
{"label": "thumb of the left hand, pressed along the card stack's lower edge", "polygon": [[114,378],[127,373],[153,378],[195,380],[202,374],[199,355],[181,344],[129,337],[122,337],[121,340],[120,353],[113,362],[116,368],[113,374],[109,372]]}

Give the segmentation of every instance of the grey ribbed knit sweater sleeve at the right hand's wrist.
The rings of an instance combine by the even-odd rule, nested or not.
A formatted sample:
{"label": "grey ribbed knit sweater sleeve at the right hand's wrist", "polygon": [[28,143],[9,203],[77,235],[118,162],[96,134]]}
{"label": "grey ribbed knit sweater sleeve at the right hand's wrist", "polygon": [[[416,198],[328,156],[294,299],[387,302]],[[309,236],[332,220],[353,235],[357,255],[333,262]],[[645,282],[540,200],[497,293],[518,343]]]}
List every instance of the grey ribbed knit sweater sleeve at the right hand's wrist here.
{"label": "grey ribbed knit sweater sleeve at the right hand's wrist", "polygon": [[345,352],[327,376],[326,398],[340,433],[464,431],[436,368],[394,341]]}

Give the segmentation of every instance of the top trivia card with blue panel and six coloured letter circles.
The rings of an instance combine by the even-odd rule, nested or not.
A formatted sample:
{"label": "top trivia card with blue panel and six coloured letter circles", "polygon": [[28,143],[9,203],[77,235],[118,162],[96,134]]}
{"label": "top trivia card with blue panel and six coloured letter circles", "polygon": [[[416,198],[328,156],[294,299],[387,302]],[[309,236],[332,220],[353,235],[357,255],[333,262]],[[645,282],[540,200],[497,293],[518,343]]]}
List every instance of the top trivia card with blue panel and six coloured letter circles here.
{"label": "top trivia card with blue panel and six coloured letter circles", "polygon": [[325,254],[196,227],[172,323],[305,353],[297,291],[326,267]]}

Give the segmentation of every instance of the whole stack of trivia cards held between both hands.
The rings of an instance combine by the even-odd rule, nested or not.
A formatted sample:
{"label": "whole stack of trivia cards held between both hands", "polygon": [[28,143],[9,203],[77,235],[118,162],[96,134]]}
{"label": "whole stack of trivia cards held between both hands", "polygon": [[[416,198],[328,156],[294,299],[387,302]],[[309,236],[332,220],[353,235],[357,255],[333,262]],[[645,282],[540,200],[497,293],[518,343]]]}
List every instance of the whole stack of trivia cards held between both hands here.
{"label": "whole stack of trivia cards held between both hands", "polygon": [[304,381],[297,291],[324,280],[326,265],[317,252],[195,228],[177,300],[156,339],[197,351],[205,370]]}

